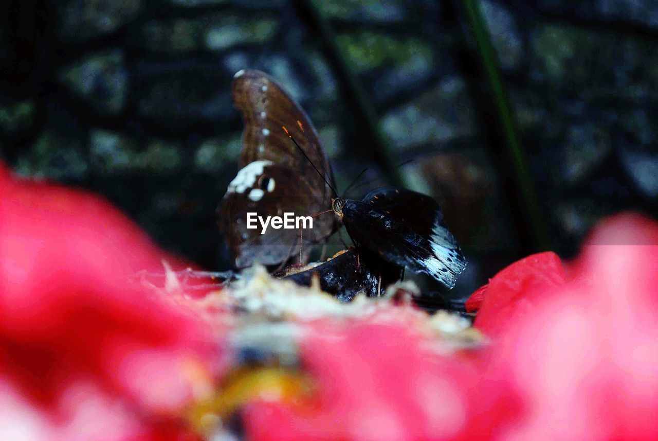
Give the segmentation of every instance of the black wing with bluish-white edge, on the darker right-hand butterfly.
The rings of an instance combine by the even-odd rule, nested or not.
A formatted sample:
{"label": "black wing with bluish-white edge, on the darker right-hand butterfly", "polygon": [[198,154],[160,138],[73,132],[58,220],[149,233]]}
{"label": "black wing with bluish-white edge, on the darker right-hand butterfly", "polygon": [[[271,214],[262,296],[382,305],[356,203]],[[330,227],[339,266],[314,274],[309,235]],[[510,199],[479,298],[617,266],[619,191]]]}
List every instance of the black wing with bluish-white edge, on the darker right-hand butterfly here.
{"label": "black wing with bluish-white edge, on the darker right-hand butterfly", "polygon": [[345,202],[343,223],[359,246],[429,274],[448,288],[466,267],[438,203],[427,195],[397,188],[373,190],[362,201]]}

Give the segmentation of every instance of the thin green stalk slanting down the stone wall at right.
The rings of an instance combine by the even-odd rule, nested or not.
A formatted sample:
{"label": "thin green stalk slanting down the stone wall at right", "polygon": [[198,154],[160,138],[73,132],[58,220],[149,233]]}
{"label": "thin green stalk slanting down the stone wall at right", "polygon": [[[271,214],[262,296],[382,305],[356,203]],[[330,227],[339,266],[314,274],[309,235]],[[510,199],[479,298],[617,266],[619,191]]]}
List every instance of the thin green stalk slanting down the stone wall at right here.
{"label": "thin green stalk slanting down the stone wall at right", "polygon": [[503,82],[501,81],[489,33],[484,24],[482,12],[480,11],[480,0],[462,0],[462,3],[467,13],[468,21],[470,22],[470,29],[477,45],[480,62],[484,66],[489,87],[493,94],[497,116],[503,127],[505,145],[514,166],[517,183],[521,187],[521,197],[524,207],[526,207],[535,246],[539,249],[548,249],[548,234],[542,211],[537,202],[537,191],[532,180],[532,175],[530,174],[526,155],[519,140],[519,134],[510,111],[507,95],[503,88]]}

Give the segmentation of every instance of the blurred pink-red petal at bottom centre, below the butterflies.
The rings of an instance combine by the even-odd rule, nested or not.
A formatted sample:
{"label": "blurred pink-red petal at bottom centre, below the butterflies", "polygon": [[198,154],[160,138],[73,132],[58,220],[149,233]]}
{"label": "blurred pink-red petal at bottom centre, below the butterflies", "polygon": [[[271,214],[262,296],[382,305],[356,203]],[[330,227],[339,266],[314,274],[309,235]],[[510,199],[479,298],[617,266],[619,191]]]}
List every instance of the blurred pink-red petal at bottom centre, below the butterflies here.
{"label": "blurred pink-red petal at bottom centre, below the butterflies", "polygon": [[302,347],[316,382],[313,399],[252,405],[247,434],[254,440],[468,440],[495,434],[503,415],[517,412],[515,398],[505,396],[499,382],[481,382],[484,359],[477,353],[463,357],[442,353],[440,346],[386,313],[362,323],[318,323]]}

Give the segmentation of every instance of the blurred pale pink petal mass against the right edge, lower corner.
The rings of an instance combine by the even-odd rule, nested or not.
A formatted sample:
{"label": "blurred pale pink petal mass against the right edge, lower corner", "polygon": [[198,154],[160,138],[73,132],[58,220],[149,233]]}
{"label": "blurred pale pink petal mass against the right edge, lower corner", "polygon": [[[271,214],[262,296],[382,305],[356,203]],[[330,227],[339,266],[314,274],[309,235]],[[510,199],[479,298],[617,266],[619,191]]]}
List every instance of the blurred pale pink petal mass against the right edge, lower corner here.
{"label": "blurred pale pink petal mass against the right edge, lower corner", "polygon": [[658,439],[658,224],[601,222],[568,272],[499,336],[525,403],[509,439]]}

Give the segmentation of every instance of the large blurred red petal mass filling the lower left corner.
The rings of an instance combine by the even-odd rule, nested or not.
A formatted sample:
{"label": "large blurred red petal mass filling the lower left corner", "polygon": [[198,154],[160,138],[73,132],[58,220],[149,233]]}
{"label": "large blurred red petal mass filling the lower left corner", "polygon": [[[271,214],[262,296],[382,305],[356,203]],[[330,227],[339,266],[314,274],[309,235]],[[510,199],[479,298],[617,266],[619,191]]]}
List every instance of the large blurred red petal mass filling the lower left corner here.
{"label": "large blurred red petal mass filling the lower left corner", "polygon": [[128,276],[171,257],[103,199],[1,163],[0,226],[0,434],[115,440],[166,423],[205,330]]}

